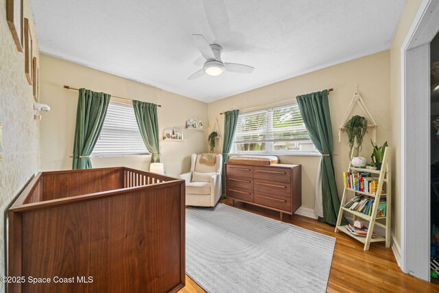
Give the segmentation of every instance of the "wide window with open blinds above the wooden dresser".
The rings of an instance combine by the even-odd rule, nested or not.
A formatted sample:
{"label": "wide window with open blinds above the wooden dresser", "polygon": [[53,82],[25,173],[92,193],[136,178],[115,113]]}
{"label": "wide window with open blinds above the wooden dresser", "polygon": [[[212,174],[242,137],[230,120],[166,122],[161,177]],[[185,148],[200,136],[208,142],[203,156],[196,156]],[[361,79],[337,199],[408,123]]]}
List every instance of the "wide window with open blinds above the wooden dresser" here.
{"label": "wide window with open blinds above the wooden dresser", "polygon": [[233,152],[272,154],[316,152],[300,115],[298,104],[240,114]]}

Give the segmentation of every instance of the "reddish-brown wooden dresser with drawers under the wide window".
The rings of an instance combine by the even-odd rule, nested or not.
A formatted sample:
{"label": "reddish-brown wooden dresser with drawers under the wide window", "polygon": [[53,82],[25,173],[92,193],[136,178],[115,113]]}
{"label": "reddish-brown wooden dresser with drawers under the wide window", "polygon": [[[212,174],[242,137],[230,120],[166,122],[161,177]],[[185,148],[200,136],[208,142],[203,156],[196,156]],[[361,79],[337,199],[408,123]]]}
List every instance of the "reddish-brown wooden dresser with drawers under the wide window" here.
{"label": "reddish-brown wooden dresser with drawers under the wide window", "polygon": [[300,165],[226,163],[226,196],[292,215],[302,204]]}

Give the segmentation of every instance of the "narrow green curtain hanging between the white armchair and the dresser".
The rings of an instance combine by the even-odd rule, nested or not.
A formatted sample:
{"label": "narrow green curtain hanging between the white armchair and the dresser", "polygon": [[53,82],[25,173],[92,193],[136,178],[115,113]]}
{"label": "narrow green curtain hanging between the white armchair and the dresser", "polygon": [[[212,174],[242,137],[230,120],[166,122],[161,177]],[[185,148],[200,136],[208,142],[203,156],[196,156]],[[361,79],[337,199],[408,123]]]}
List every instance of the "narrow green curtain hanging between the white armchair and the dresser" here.
{"label": "narrow green curtain hanging between the white armchair and the dresser", "polygon": [[222,143],[222,197],[226,197],[226,166],[232,149],[233,137],[235,137],[236,125],[238,122],[239,110],[231,110],[224,112],[224,139]]}

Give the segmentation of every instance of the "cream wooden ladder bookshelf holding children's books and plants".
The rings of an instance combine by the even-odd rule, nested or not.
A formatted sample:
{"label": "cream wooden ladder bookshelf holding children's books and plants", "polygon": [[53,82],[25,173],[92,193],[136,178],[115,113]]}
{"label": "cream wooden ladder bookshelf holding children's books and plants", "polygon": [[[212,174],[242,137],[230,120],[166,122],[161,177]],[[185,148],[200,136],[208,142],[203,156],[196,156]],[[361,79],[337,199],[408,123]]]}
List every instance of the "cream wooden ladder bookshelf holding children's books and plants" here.
{"label": "cream wooden ladder bookshelf holding children's books and plants", "polygon": [[[381,170],[357,168],[357,167],[353,167],[351,162],[349,163],[348,172],[352,172],[352,171],[368,172],[370,174],[375,174],[375,176],[378,176],[379,178],[377,194],[368,194],[366,192],[357,191],[347,187],[344,188],[342,202],[340,203],[340,211],[338,212],[337,224],[335,226],[335,232],[342,231],[347,235],[353,237],[354,239],[357,239],[359,242],[364,243],[364,250],[369,250],[370,242],[384,241],[385,247],[387,248],[390,247],[390,215],[391,215],[391,207],[392,207],[392,173],[391,173],[392,163],[390,162],[391,152],[392,150],[390,147],[385,148]],[[383,187],[385,189],[384,194],[382,193]],[[352,211],[351,209],[343,207],[343,205],[347,202],[347,198],[351,197],[348,194],[352,194],[353,196],[363,194],[364,196],[368,196],[368,198],[374,198],[375,201],[372,205],[372,214],[365,215],[364,213],[358,211]],[[381,196],[385,197],[387,202],[385,217],[377,218],[377,209]],[[357,218],[363,220],[363,223],[366,224],[366,226],[368,227],[368,233],[366,237],[355,236],[346,230],[346,226],[341,225],[344,213],[353,215],[353,221],[357,220]],[[364,220],[366,220],[367,222],[364,222]],[[377,233],[375,237],[372,237],[372,232],[374,231],[374,228],[376,226],[384,228],[385,235],[378,235]]]}

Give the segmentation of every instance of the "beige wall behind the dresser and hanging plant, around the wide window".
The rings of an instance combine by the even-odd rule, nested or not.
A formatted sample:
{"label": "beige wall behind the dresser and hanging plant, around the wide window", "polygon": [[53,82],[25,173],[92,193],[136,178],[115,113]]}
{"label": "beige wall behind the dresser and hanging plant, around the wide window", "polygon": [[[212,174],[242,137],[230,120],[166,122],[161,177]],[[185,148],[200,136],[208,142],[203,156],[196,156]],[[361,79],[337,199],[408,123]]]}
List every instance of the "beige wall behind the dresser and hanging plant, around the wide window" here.
{"label": "beige wall behind the dresser and hanging plant, around the wide window", "polygon": [[[364,103],[372,113],[379,125],[377,142],[382,145],[390,141],[390,58],[389,51],[344,62],[340,65],[320,69],[312,73],[300,75],[296,78],[277,82],[260,89],[234,95],[209,104],[209,121],[213,125],[218,119],[221,132],[224,128],[224,115],[219,113],[224,110],[242,109],[261,104],[290,99],[297,95],[333,88],[329,95],[329,108],[331,110],[335,174],[339,196],[342,196],[342,172],[346,171],[349,163],[349,150],[346,134],[338,142],[338,127],[342,123],[344,114],[355,92],[355,84],[359,84],[359,92]],[[355,108],[352,115],[364,115],[359,108]],[[364,148],[361,155],[370,160],[371,146],[370,134],[364,138]],[[221,146],[217,151],[221,150]],[[316,172],[319,156],[279,156],[282,163],[297,163],[302,165],[302,207],[313,209],[314,190],[316,187]]]}

